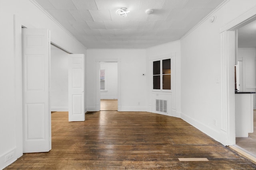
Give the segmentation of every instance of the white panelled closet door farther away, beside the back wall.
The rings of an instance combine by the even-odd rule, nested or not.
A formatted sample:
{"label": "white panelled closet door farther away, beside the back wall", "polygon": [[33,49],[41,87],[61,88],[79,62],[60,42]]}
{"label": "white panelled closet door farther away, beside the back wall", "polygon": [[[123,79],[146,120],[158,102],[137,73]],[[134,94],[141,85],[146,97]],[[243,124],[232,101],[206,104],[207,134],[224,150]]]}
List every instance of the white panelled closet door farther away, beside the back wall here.
{"label": "white panelled closet door farther away, beside the back wall", "polygon": [[84,121],[84,55],[68,57],[68,121]]}

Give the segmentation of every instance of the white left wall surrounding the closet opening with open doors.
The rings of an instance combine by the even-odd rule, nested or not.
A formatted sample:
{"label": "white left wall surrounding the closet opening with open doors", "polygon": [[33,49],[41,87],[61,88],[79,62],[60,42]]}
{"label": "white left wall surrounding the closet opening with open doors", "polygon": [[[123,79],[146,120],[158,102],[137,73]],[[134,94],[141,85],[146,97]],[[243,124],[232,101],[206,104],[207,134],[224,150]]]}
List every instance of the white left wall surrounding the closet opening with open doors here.
{"label": "white left wall surrounding the closet opening with open doors", "polygon": [[[22,156],[23,150],[21,25],[48,28],[54,43],[72,53],[86,55],[86,48],[33,0],[0,0],[0,169]],[[5,162],[5,156],[12,152],[13,158]]]}

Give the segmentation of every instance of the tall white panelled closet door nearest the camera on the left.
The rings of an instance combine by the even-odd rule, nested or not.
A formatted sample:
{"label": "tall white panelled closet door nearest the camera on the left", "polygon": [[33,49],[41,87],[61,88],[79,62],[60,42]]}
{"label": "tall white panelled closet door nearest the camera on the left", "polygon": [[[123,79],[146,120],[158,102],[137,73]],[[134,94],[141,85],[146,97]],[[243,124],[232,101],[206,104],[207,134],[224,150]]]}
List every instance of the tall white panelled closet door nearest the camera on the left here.
{"label": "tall white panelled closet door nearest the camera on the left", "polygon": [[51,150],[50,31],[22,29],[23,152]]}

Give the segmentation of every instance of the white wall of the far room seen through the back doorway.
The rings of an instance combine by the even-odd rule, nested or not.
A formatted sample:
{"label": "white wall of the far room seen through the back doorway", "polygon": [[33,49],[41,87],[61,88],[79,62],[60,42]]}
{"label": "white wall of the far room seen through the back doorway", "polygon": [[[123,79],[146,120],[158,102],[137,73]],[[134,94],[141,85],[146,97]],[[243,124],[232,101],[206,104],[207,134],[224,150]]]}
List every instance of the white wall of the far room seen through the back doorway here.
{"label": "white wall of the far room seen through the back doorway", "polygon": [[105,90],[100,91],[100,99],[117,99],[117,62],[102,62],[100,70],[105,70]]}

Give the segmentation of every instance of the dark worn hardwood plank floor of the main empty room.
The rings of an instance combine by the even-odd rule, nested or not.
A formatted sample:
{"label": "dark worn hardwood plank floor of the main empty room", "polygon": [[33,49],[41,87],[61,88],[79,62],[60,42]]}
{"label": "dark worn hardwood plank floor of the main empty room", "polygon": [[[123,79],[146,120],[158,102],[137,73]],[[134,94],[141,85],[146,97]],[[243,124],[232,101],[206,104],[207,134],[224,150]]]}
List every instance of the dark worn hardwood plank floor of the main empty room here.
{"label": "dark worn hardwood plank floor of the main empty room", "polygon": [[24,154],[9,169],[238,170],[256,169],[256,164],[182,119],[98,111],[87,113],[84,122],[68,122],[67,112],[52,113],[52,150]]}

